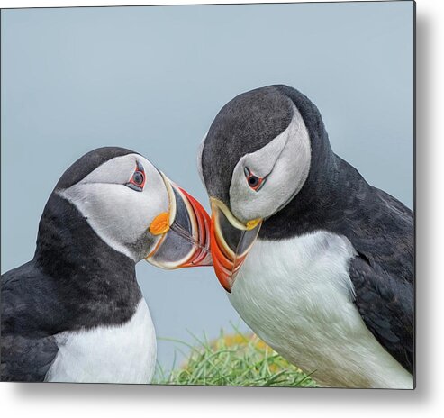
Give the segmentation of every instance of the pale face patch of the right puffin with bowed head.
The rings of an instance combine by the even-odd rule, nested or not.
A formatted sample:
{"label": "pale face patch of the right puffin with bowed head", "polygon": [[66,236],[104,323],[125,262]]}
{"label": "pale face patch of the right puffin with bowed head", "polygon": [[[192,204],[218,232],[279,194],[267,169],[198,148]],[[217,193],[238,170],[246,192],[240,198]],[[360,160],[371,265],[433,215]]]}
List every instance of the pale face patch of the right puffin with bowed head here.
{"label": "pale face patch of the right puffin with bowed head", "polygon": [[[276,214],[304,186],[311,164],[310,137],[293,104],[293,118],[284,132],[265,147],[244,155],[233,170],[231,212],[241,222]],[[263,186],[249,186],[245,170],[265,177]]]}

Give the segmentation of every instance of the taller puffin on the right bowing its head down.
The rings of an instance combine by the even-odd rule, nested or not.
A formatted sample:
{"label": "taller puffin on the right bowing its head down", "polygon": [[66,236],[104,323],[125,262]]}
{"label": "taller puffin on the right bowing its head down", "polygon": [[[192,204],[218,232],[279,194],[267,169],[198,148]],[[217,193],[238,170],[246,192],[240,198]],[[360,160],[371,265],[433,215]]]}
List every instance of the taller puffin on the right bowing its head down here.
{"label": "taller puffin on the right bowing its head down", "polygon": [[331,150],[311,100],[236,96],[198,168],[215,274],[253,332],[320,386],[413,388],[412,210]]}

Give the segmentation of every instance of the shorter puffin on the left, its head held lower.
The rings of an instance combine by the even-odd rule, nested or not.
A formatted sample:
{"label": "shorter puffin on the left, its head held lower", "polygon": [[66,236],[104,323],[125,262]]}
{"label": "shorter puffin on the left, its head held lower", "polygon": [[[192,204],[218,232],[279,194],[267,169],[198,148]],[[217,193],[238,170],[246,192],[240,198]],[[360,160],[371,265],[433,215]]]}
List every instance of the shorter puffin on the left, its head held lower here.
{"label": "shorter puffin on the left, its head held lower", "polygon": [[33,259],[2,275],[2,380],[150,383],[156,335],[135,265],[211,264],[209,229],[139,153],[78,159],[44,207]]}

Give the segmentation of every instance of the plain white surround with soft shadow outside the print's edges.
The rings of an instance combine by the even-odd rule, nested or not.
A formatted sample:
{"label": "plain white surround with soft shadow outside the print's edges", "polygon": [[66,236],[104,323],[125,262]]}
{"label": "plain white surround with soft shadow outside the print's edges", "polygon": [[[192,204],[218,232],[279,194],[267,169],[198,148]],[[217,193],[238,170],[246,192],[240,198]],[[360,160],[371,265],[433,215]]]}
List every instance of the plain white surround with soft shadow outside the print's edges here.
{"label": "plain white surround with soft shadow outside the print's edges", "polygon": [[[21,1],[1,7],[202,4],[172,1]],[[231,3],[220,0],[214,3]],[[279,2],[242,2],[279,3]],[[444,2],[417,1],[417,389],[412,391],[0,384],[3,416],[421,418],[444,411]],[[440,19],[439,19],[440,17]]]}

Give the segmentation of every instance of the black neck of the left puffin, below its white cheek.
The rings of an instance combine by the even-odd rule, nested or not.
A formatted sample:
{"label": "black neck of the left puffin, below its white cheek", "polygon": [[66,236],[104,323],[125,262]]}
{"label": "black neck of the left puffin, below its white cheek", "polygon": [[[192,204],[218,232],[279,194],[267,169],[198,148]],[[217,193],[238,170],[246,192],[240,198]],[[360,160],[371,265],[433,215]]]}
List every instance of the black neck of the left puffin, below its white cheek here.
{"label": "black neck of the left puffin, below its white cheek", "polygon": [[125,322],[140,302],[134,261],[102,241],[57,193],[41,216],[34,262],[57,289],[71,329]]}

